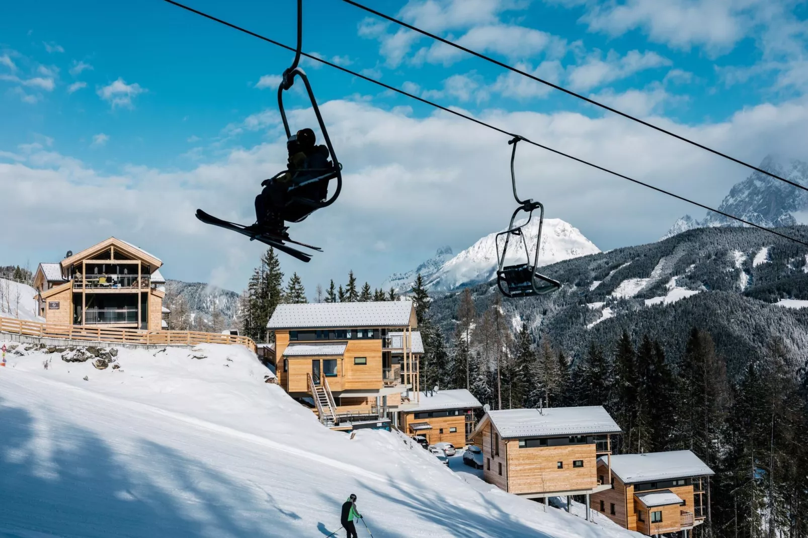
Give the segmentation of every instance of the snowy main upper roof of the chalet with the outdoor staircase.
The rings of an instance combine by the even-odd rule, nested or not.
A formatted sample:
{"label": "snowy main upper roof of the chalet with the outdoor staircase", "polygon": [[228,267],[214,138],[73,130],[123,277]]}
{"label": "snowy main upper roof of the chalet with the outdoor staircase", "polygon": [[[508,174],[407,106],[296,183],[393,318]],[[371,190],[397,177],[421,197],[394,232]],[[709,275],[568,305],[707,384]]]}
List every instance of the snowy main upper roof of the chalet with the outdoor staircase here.
{"label": "snowy main upper roof of the chalet with the outdoor staircase", "polygon": [[278,305],[267,329],[409,326],[410,301]]}

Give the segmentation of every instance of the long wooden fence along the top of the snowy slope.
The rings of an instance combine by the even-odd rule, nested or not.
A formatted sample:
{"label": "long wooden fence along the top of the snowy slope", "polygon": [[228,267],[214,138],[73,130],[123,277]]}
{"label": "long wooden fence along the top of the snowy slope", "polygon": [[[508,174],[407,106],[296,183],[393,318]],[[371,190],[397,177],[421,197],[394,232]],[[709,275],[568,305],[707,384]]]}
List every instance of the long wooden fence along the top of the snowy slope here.
{"label": "long wooden fence along the top of the snowy slope", "polygon": [[65,338],[84,342],[129,343],[160,345],[186,345],[198,343],[240,344],[255,352],[255,342],[246,336],[203,333],[196,330],[136,330],[111,327],[53,325],[0,317],[0,333],[23,334],[38,338]]}

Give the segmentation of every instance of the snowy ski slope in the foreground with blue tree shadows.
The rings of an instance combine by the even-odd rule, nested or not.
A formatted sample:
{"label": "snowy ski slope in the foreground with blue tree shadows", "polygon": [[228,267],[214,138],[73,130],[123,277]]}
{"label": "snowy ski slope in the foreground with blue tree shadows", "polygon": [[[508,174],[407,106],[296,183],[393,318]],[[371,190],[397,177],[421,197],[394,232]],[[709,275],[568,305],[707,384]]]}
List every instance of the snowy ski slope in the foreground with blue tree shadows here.
{"label": "snowy ski slope in the foreground with blue tree shadows", "polygon": [[0,368],[3,537],[322,537],[351,493],[376,538],[639,536],[456,473],[398,433],[330,431],[244,347],[117,348],[99,370],[0,342],[19,346]]}

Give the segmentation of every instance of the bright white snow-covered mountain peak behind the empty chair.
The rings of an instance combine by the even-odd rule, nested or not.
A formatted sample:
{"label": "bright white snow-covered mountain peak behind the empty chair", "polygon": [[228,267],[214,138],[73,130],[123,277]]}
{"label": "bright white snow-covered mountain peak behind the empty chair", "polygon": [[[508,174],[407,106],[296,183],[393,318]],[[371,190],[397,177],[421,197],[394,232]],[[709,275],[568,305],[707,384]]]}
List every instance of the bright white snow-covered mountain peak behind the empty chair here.
{"label": "bright white snow-covered mountain peak behind the empty chair", "polygon": [[[539,221],[533,219],[524,228],[531,262],[536,253],[538,226]],[[482,237],[468,249],[450,259],[427,280],[428,288],[431,291],[441,292],[493,279],[497,268],[496,234],[490,233],[486,237]],[[600,249],[584,237],[579,229],[561,219],[545,219],[541,236],[540,266],[600,252]],[[500,244],[502,244],[503,238],[500,239]],[[511,243],[508,246],[506,263],[524,263],[526,261],[524,246],[521,242],[514,244],[514,238],[511,237]]]}

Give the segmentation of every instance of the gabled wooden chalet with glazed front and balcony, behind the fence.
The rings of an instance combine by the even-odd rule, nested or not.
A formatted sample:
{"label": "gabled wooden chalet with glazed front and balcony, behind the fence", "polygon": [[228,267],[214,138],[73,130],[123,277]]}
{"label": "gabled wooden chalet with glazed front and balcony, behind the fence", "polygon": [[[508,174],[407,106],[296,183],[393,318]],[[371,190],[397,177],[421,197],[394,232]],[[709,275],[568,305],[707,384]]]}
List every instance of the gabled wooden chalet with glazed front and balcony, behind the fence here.
{"label": "gabled wooden chalet with glazed front and balcony, behind the fence", "polygon": [[160,330],[166,280],[162,261],[116,237],[59,263],[40,263],[34,275],[40,316],[60,326]]}

